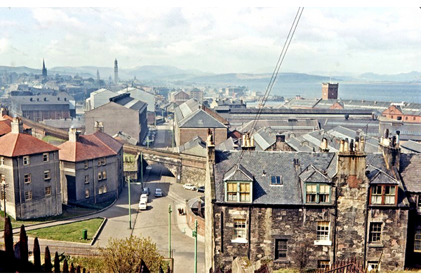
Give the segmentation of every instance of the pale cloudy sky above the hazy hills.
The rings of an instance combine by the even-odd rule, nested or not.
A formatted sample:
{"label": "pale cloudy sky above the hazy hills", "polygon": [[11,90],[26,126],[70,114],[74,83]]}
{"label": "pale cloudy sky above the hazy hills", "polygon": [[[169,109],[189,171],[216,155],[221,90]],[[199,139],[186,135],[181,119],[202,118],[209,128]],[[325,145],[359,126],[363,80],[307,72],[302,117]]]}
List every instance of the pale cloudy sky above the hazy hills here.
{"label": "pale cloudy sky above the hazy hills", "polygon": [[421,71],[421,8],[1,7],[0,65],[208,73]]}

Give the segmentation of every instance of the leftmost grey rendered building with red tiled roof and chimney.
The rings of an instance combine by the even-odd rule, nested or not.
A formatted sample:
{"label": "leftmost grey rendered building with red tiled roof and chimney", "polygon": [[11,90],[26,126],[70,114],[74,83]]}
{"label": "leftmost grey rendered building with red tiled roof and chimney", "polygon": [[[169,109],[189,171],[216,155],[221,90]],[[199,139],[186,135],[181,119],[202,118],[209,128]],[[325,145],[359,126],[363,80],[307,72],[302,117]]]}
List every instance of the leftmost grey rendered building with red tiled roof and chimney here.
{"label": "leftmost grey rendered building with red tiled roof and chimney", "polygon": [[[15,220],[62,214],[58,148],[23,133],[13,118],[0,137],[1,209]],[[6,202],[6,205],[5,205]]]}

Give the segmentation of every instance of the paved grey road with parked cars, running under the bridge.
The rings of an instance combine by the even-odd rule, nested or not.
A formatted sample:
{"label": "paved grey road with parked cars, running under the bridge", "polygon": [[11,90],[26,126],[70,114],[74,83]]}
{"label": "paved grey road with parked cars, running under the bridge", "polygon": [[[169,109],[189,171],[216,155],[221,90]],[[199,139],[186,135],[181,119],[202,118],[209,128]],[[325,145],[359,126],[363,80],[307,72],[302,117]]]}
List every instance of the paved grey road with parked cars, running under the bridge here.
{"label": "paved grey road with parked cars, running under the bridge", "polygon": [[[168,131],[166,130],[162,130],[162,132],[163,134],[168,134]],[[144,175],[144,181],[145,186],[149,187],[151,192],[146,211],[138,211],[140,185],[131,183],[130,192],[128,184],[126,184],[119,199],[108,209],[96,214],[72,218],[66,221],[25,226],[25,230],[34,230],[36,228],[59,225],[62,223],[72,223],[86,218],[105,217],[107,218],[105,225],[98,233],[97,239],[93,244],[39,239],[41,251],[44,251],[45,246],[48,246],[51,252],[72,253],[73,251],[75,253],[83,248],[95,249],[98,248],[98,246],[105,247],[110,238],[123,239],[130,237],[131,235],[151,237],[152,241],[156,243],[161,255],[164,255],[166,258],[169,254],[168,247],[171,242],[175,273],[194,273],[195,239],[192,237],[192,229],[187,225],[186,216],[178,215],[177,209],[180,207],[185,208],[185,202],[197,197],[199,193],[183,189],[181,184],[175,183],[175,178],[168,172],[168,169],[161,165],[152,165],[152,169],[147,169],[147,172]],[[158,187],[163,190],[163,197],[154,197],[154,190]],[[129,193],[131,198],[131,215],[129,215]],[[168,226],[170,222],[168,206],[171,206],[171,209],[173,210],[171,212],[171,231]],[[18,228],[13,230],[13,232],[19,231],[20,229]],[[3,232],[0,232],[0,237],[3,238]],[[14,238],[15,241],[18,241],[19,236],[15,235]],[[205,272],[203,241],[204,238],[199,235],[197,242],[196,269],[199,273]],[[32,246],[33,239],[29,238],[29,248],[32,248]]]}

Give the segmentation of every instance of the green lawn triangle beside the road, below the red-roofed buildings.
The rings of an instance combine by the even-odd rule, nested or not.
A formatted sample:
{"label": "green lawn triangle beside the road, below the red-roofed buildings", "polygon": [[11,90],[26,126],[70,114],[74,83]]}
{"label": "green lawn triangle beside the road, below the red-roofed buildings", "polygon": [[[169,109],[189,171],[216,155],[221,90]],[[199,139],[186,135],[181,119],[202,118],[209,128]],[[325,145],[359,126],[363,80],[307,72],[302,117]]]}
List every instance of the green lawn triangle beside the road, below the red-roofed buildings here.
{"label": "green lawn triangle beside the road, below the red-roofed buildings", "polygon": [[[38,230],[28,230],[27,236],[57,241],[91,243],[104,218],[93,218],[86,221],[55,225]],[[87,239],[83,239],[83,230],[87,230]]]}

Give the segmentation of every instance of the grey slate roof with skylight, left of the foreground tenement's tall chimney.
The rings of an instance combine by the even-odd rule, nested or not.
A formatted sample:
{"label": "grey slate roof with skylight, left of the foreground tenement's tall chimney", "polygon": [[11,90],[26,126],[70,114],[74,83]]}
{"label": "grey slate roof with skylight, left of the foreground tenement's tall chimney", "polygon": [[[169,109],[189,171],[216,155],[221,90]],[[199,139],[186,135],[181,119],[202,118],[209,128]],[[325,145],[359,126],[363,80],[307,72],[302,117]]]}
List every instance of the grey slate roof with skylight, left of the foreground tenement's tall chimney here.
{"label": "grey slate roof with skylight, left of the foreground tenement's tall chimney", "polygon": [[[241,151],[215,151],[216,202],[224,202],[223,180],[236,166],[240,155]],[[252,204],[302,204],[299,175],[313,165],[318,170],[326,170],[330,176],[335,172],[334,159],[335,153],[243,151],[241,166],[254,178]],[[262,176],[263,171],[265,176]],[[271,185],[270,176],[282,176],[283,185]]]}

